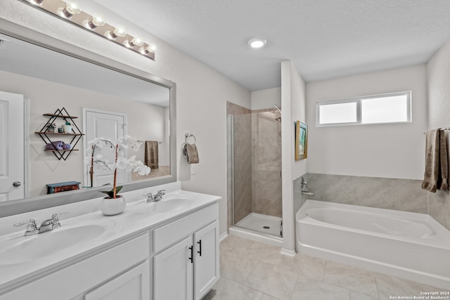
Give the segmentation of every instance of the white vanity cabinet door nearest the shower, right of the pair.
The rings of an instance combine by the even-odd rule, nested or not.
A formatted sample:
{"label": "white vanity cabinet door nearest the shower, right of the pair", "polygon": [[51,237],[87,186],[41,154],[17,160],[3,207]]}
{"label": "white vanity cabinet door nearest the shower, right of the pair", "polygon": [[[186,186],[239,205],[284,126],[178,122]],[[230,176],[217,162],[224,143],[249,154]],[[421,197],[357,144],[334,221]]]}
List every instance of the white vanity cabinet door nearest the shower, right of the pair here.
{"label": "white vanity cabinet door nearest the shower, right of the pair", "polygon": [[219,280],[219,221],[194,234],[194,299],[201,299]]}

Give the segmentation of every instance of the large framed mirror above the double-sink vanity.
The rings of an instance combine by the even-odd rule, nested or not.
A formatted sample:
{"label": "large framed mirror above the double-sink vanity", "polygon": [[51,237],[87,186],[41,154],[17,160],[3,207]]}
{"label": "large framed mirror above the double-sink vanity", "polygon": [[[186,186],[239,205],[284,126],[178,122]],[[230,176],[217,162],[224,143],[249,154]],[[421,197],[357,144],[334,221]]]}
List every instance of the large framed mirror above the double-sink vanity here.
{"label": "large framed mirror above the double-sink vanity", "polygon": [[[87,142],[103,136],[102,131],[142,141],[138,152],[127,153],[127,157],[136,155],[142,162],[146,159],[146,141],[158,145],[157,150],[153,149],[156,155],[152,155],[158,157],[158,167],[153,162],[148,176],[124,174],[119,180],[124,185],[123,191],[176,181],[176,100],[172,81],[5,20],[1,20],[0,28],[0,39],[4,40],[0,44],[0,91],[25,98],[24,197],[0,202],[0,216],[101,197],[99,190],[106,188],[99,186],[108,181],[94,179],[92,184],[90,168],[84,160]],[[49,120],[45,114],[54,114],[62,107],[73,119],[56,118],[56,133],[63,123],[70,121],[74,123],[73,131],[76,126],[83,134],[70,155],[65,156],[67,159],[44,151],[46,143],[36,133]],[[106,120],[102,121],[103,127],[98,125],[99,120]],[[109,128],[108,124],[116,127]],[[15,135],[15,130],[8,134]],[[52,141],[73,143],[72,136],[49,134],[49,137]],[[94,174],[101,172],[94,169]],[[79,182],[79,190],[47,195],[46,185],[60,182]]]}

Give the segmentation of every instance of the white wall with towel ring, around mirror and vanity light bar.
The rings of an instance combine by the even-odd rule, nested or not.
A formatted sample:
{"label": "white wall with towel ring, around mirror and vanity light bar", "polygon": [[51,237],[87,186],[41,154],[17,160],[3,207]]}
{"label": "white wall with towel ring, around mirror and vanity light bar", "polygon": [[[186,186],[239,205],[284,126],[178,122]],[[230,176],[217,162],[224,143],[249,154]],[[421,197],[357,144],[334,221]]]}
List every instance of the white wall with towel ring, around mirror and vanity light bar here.
{"label": "white wall with towel ring, around mirror and vanity light bar", "polygon": [[[105,10],[104,15],[110,12]],[[112,13],[114,14],[114,13]],[[0,1],[0,18],[32,28],[103,56],[176,82],[176,151],[179,174],[186,190],[219,195],[220,233],[226,231],[226,101],[250,107],[250,91],[210,67],[184,54],[141,27],[117,16],[129,32],[158,46],[156,60],[117,46],[95,34],[37,11],[16,0]],[[184,134],[197,138],[200,163],[197,175],[186,176],[188,166],[180,159]],[[181,176],[180,176],[181,177]]]}

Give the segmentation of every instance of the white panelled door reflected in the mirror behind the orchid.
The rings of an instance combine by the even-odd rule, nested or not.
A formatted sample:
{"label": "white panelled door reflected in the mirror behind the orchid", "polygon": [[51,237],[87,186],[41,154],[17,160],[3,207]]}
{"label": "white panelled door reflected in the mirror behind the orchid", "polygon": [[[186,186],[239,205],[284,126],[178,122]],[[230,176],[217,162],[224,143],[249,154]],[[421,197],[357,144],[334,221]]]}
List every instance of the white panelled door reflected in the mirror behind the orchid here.
{"label": "white panelled door reflected in the mirror behind the orchid", "polygon": [[[117,138],[127,134],[126,124],[127,115],[120,112],[106,112],[103,110],[94,110],[90,108],[83,108],[84,116],[84,133],[86,134],[84,140],[84,148],[89,141],[94,138],[109,138],[111,141],[116,141]],[[109,153],[109,156],[108,156]],[[114,162],[114,151],[102,153],[109,162]],[[94,155],[96,153],[94,152]],[[84,166],[84,185],[91,186],[91,178],[89,174],[90,167]],[[114,180],[114,172],[106,169],[94,167],[93,186],[100,186],[105,184],[112,184]],[[124,183],[130,181],[129,174],[124,170],[117,170],[117,183]]]}

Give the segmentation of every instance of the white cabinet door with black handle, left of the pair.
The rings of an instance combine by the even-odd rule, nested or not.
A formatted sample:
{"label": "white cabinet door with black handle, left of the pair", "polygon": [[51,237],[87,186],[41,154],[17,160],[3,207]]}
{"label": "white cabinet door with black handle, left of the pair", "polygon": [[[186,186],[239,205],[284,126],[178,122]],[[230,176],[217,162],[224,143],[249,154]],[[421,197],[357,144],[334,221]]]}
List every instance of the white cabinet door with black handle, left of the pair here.
{"label": "white cabinet door with black handle, left of the pair", "polygon": [[193,297],[192,236],[153,257],[154,300],[191,300]]}

